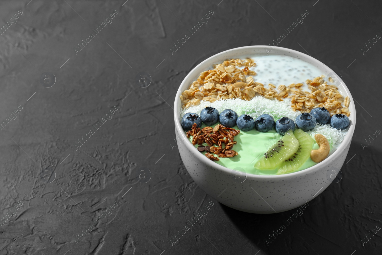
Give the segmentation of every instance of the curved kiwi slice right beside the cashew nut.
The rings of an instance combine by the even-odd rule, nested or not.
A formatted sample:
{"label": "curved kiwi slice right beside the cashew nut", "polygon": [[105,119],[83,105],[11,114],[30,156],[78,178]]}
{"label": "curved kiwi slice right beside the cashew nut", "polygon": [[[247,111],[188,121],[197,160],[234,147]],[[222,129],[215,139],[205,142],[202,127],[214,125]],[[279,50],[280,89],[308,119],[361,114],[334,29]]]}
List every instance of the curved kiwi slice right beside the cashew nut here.
{"label": "curved kiwi slice right beside the cashew nut", "polygon": [[293,134],[297,138],[300,146],[298,147],[296,153],[288,159],[285,159],[282,166],[278,169],[277,174],[287,174],[296,171],[310,157],[310,152],[313,145],[313,139],[311,136],[301,129],[295,130]]}

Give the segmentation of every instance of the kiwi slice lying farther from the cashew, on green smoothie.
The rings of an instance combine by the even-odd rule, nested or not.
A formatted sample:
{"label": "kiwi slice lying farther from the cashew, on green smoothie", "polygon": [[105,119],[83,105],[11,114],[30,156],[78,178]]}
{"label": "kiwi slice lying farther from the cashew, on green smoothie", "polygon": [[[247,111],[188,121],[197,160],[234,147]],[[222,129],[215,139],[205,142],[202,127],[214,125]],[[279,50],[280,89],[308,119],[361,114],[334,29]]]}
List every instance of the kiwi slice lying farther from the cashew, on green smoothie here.
{"label": "kiwi slice lying farther from the cashew, on green smoothie", "polygon": [[285,159],[288,159],[297,151],[298,146],[298,140],[293,135],[292,130],[289,130],[264,153],[264,156],[257,161],[255,167],[264,170],[276,169]]}

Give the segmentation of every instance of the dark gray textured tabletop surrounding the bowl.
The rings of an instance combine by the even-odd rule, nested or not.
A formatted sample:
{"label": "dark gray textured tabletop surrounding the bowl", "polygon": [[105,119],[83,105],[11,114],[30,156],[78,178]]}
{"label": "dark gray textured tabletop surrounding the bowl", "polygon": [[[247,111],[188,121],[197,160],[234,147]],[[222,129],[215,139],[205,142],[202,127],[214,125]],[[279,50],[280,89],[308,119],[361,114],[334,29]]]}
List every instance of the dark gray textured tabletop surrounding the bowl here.
{"label": "dark gray textured tabletop surrounding the bowl", "polygon": [[[382,3],[220,1],[0,3],[0,255],[381,254],[382,232],[365,235],[382,226],[382,138],[366,144],[382,130]],[[269,45],[306,10],[278,46],[342,76],[357,128],[342,179],[267,242],[295,211],[243,213],[202,191],[176,147],[173,100],[202,60]]]}

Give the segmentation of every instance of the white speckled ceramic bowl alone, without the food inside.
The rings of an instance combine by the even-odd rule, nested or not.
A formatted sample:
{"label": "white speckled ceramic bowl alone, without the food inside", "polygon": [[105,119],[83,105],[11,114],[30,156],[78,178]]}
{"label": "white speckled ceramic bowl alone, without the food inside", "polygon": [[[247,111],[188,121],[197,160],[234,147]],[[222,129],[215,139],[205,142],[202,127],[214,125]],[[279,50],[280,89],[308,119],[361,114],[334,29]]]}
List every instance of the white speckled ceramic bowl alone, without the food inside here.
{"label": "white speckled ceramic bowl alone, without the food inside", "polygon": [[[336,85],[342,91],[343,96],[350,97],[350,126],[337,150],[315,166],[284,175],[246,174],[246,176],[238,176],[238,172],[220,166],[197,151],[186,138],[181,127],[180,94],[188,89],[188,86],[199,77],[202,71],[208,70],[213,64],[218,63],[218,59],[225,60],[242,57],[243,55],[264,54],[268,50],[269,46],[264,45],[246,46],[226,50],[207,58],[191,70],[180,84],[174,103],[175,133],[179,153],[192,179],[202,190],[220,203],[249,213],[279,213],[291,210],[323,192],[333,181],[333,177],[340,171],[345,161],[356,123],[353,98],[343,81],[338,79],[340,85]],[[332,69],[319,60],[296,50],[275,47],[269,54],[299,58],[316,66],[322,70],[323,74],[334,73]],[[241,179],[238,177],[241,177]]]}

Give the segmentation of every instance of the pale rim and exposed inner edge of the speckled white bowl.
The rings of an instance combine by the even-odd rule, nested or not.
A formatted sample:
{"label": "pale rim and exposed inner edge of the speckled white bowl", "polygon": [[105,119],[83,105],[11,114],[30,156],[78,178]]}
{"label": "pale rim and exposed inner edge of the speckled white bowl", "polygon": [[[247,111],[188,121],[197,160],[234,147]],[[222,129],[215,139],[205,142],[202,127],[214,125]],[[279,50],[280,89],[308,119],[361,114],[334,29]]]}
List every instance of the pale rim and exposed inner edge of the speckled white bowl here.
{"label": "pale rim and exposed inner edge of the speckled white bowl", "polygon": [[[199,75],[199,73],[201,73],[202,71],[205,71],[204,69],[203,70],[198,70],[198,69],[201,68],[201,66],[204,65],[206,62],[210,62],[211,65],[213,65],[214,63],[217,63],[217,59],[219,59],[220,56],[225,55],[228,52],[231,52],[231,57],[226,56],[226,57],[224,57],[224,59],[227,59],[227,58],[237,58],[238,56],[241,56],[241,55],[250,55],[250,53],[244,53],[244,52],[245,51],[248,52],[251,49],[253,49],[253,50],[254,49],[256,49],[256,50],[263,49],[264,52],[267,52],[270,49],[270,46],[266,46],[266,45],[251,45],[251,46],[244,46],[244,47],[238,47],[238,48],[234,48],[234,49],[225,50],[223,52],[220,52],[218,54],[215,54],[215,55],[207,58],[203,62],[199,63],[199,65],[194,67],[191,71],[189,71],[188,75],[184,78],[184,80],[182,81],[182,83],[180,84],[180,86],[178,88],[178,91],[177,91],[176,96],[175,96],[175,102],[174,102],[175,128],[178,130],[179,134],[182,136],[182,140],[183,141],[189,141],[189,140],[186,137],[186,135],[185,135],[185,133],[183,131],[183,128],[181,127],[181,122],[180,122],[180,118],[179,118],[180,117],[180,107],[179,107],[179,105],[181,105],[181,104],[180,104],[180,97],[179,96],[186,89],[186,86],[189,86],[189,84],[192,83],[192,80],[190,80],[190,81],[188,81],[188,80],[191,78],[191,76],[196,77],[197,75]],[[242,50],[242,52],[238,53],[238,52],[240,52],[240,50]],[[253,54],[259,54],[259,53],[254,52]],[[296,50],[292,50],[292,49],[288,49],[288,48],[283,48],[283,47],[273,47],[273,49],[270,52],[270,54],[272,54],[272,55],[287,55],[287,56],[290,56],[290,57],[299,58],[299,59],[303,60],[304,62],[308,62],[311,65],[316,66],[317,68],[319,68],[319,70],[323,71],[323,73],[327,73],[327,74],[329,74],[331,72],[334,73],[334,71],[332,69],[330,69],[327,65],[325,65],[322,62],[320,62],[316,58],[313,58],[313,57],[311,57],[309,55],[306,55],[306,54],[304,54],[302,52],[299,52],[299,51],[296,51]],[[246,177],[247,178],[251,178],[251,179],[269,179],[269,180],[293,179],[293,178],[298,177],[300,175],[302,176],[302,175],[309,174],[309,172],[319,171],[320,169],[322,169],[322,166],[327,164],[328,161],[335,161],[337,156],[346,148],[346,146],[348,146],[351,143],[351,138],[353,136],[354,128],[355,128],[355,123],[356,123],[356,110],[355,110],[355,106],[354,106],[354,103],[353,103],[354,102],[353,101],[353,97],[351,96],[349,89],[347,88],[345,83],[342,81],[342,79],[339,79],[339,80],[340,80],[340,85],[338,85],[337,87],[341,89],[343,94],[347,94],[347,96],[350,97],[350,106],[349,106],[349,109],[350,109],[350,112],[351,112],[351,122],[350,122],[349,127],[347,128],[348,131],[347,131],[347,133],[345,135],[345,138],[343,139],[343,141],[340,144],[340,146],[338,146],[338,148],[328,158],[326,158],[322,162],[320,162],[320,163],[318,163],[318,164],[316,164],[316,165],[314,165],[312,167],[309,167],[307,169],[304,169],[304,170],[301,170],[301,171],[298,171],[298,172],[289,173],[289,174],[281,174],[281,175],[258,175],[258,174],[246,173]],[[230,169],[228,167],[225,167],[225,166],[221,166],[221,165],[211,161],[210,159],[208,159],[202,153],[197,151],[197,149],[191,143],[185,142],[185,145],[189,149],[189,151],[194,152],[194,156],[197,159],[202,161],[207,166],[215,168],[215,169],[218,169],[218,170],[223,171],[223,172],[226,172],[227,174],[230,174],[230,173],[231,174],[235,174],[232,169]]]}

